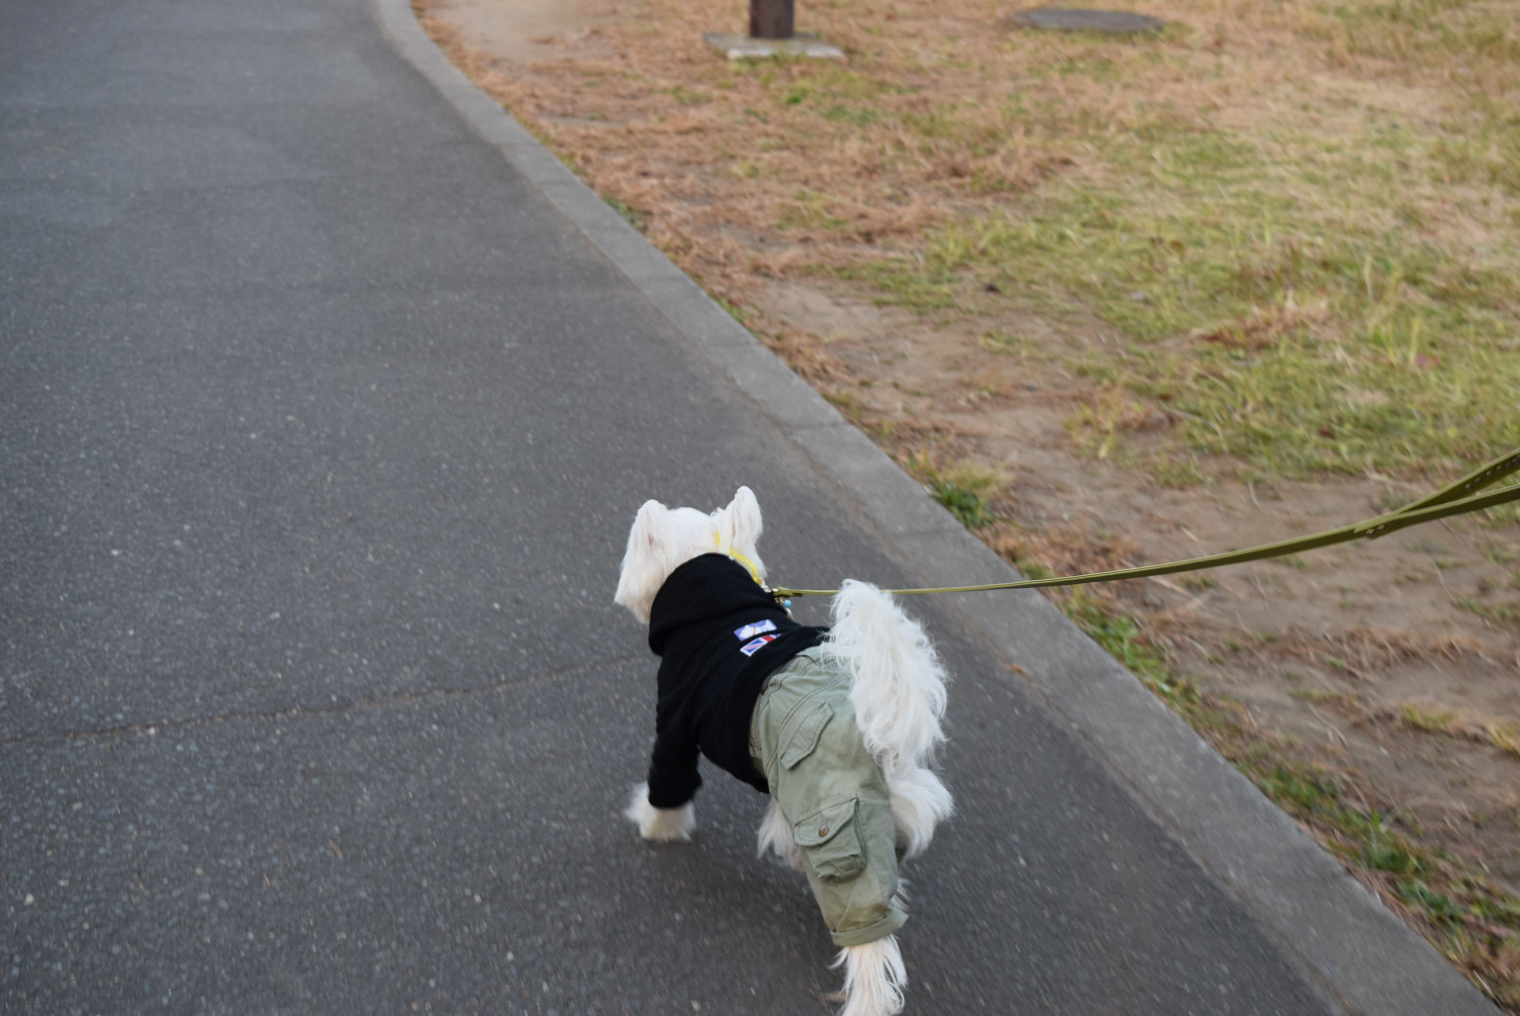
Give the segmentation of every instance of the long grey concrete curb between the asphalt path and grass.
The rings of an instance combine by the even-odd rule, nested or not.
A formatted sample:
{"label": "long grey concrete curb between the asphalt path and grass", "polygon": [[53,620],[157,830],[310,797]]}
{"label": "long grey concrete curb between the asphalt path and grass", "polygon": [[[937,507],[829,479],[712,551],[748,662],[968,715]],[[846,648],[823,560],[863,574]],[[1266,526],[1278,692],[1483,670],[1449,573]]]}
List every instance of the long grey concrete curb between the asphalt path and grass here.
{"label": "long grey concrete curb between the asphalt path and grass", "polygon": [[[409,0],[372,0],[401,55],[461,116],[856,500],[927,583],[1017,573],[924,494],[681,269],[476,88],[423,32]],[[1015,599],[1009,601],[1009,596]],[[1499,1010],[1249,780],[1038,593],[956,605],[1066,718],[1114,777],[1262,922],[1347,1013],[1494,1016]]]}

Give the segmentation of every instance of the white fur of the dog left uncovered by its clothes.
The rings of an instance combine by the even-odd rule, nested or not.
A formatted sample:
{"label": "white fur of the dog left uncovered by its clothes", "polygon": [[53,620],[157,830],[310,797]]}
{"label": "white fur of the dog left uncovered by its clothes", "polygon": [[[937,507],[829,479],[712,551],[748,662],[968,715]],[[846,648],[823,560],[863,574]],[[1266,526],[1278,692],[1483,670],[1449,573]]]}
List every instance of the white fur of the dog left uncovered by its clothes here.
{"label": "white fur of the dog left uncovered by its clothes", "polygon": [[[711,514],[695,508],[666,508],[648,500],[634,519],[623,554],[614,599],[635,618],[649,621],[655,595],[676,567],[702,554],[731,554],[748,560],[765,581],[758,541],[760,505],[748,487]],[[833,599],[833,628],[827,656],[851,674],[850,700],[866,750],[876,756],[892,799],[892,817],[904,856],[917,856],[933,838],[935,826],[952,811],[950,791],[927,768],[944,741],[939,719],[945,709],[945,674],[923,627],[898,608],[891,595],[848,579]],[[634,788],[625,815],[646,840],[690,840],[696,827],[692,805],[661,809],[648,800],[648,788]],[[758,830],[760,853],[772,850],[795,868],[801,856],[792,823],[775,800]],[[898,894],[898,902],[904,894]],[[839,1016],[892,1016],[903,1008],[907,973],[897,935],[863,946],[847,946],[833,966],[845,969],[845,1004]]]}

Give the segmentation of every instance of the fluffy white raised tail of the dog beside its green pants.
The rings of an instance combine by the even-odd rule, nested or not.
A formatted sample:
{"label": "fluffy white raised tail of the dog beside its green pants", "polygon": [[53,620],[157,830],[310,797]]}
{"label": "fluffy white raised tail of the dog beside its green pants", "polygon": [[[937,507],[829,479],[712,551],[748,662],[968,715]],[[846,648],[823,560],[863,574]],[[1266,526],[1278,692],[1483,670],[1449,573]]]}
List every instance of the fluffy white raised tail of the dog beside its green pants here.
{"label": "fluffy white raised tail of the dog beside its green pants", "polygon": [[950,791],[924,768],[944,741],[945,672],[923,627],[889,593],[847,579],[833,599],[825,651],[850,668],[850,700],[866,750],[892,794],[907,856],[929,846],[950,814]]}

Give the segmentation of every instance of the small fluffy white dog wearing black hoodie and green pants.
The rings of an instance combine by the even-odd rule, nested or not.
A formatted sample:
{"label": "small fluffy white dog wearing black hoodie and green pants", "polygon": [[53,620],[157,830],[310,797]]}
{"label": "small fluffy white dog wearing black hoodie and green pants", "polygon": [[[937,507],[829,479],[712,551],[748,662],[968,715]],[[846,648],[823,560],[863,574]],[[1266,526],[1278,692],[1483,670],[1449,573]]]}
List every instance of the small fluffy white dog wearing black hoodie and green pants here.
{"label": "small fluffy white dog wearing black hoodie and green pants", "polygon": [[847,581],[833,627],[798,625],[765,587],[760,505],[740,487],[711,514],[646,502],[616,601],[661,656],[649,780],[626,815],[644,840],[690,840],[698,753],[771,803],[760,853],[807,875],[841,946],[841,1016],[891,1016],[907,983],[898,865],[950,815],[930,770],[945,674],[888,593]]}

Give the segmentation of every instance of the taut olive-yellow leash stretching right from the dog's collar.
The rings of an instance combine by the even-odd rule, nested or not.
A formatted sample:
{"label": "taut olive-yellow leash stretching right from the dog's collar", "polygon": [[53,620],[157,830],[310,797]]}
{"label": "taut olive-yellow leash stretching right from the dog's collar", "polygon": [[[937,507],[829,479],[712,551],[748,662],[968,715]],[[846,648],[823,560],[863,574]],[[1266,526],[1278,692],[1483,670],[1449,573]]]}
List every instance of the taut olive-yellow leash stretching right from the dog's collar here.
{"label": "taut olive-yellow leash stretching right from the dog's collar", "polygon": [[[1146,564],[1145,567],[1126,567],[1117,572],[1091,572],[1088,575],[1062,575],[1056,578],[1028,578],[1018,583],[996,583],[993,586],[941,586],[935,589],[891,589],[889,593],[897,593],[900,596],[907,596],[914,593],[980,593],[994,589],[1040,589],[1043,586],[1084,586],[1087,583],[1114,583],[1122,578],[1146,578],[1151,575],[1175,575],[1178,572],[1196,572],[1205,567],[1221,567],[1224,564],[1240,564],[1243,561],[1260,561],[1265,558],[1286,557],[1289,554],[1298,554],[1301,551],[1313,551],[1318,548],[1335,546],[1336,543],[1347,543],[1348,540],[1359,540],[1366,537],[1368,540],[1376,540],[1379,537],[1386,537],[1389,532],[1397,532],[1398,529],[1406,529],[1409,526],[1417,526],[1424,522],[1435,522],[1436,519],[1447,519],[1450,516],[1462,516],[1471,511],[1482,511],[1484,508],[1493,508],[1496,505],[1505,505],[1511,500],[1520,500],[1520,485],[1502,487],[1496,491],[1487,494],[1476,494],[1473,491],[1482,490],[1490,484],[1509,476],[1511,473],[1520,471],[1520,449],[1502,455],[1488,465],[1474,470],[1464,476],[1462,479],[1447,484],[1441,490],[1421,497],[1420,500],[1404,505],[1397,511],[1389,511],[1388,514],[1377,516],[1376,519],[1366,519],[1365,522],[1356,522],[1348,526],[1341,526],[1339,529],[1325,529],[1324,532],[1316,532],[1307,537],[1297,537],[1292,540],[1278,540],[1277,543],[1263,543],[1260,546],[1246,548],[1245,551],[1230,551],[1227,554],[1210,554],[1208,557],[1193,557],[1186,561],[1172,561],[1169,564]],[[751,575],[755,575],[752,563],[745,563]],[[758,575],[755,575],[758,583]],[[838,589],[772,589],[771,590],[777,599],[790,599],[793,596],[833,596]]]}

